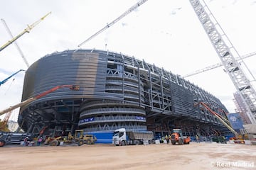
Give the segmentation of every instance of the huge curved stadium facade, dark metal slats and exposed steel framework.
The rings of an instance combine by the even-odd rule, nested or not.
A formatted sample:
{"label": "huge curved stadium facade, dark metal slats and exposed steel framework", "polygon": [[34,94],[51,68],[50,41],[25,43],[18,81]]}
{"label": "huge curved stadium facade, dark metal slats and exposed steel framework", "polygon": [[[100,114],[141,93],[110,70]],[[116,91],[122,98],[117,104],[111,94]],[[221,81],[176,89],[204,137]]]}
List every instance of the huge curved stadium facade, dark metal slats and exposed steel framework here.
{"label": "huge curved stadium facade, dark metal slats and exposed steel framework", "polygon": [[225,131],[199,102],[214,111],[223,104],[198,86],[154,64],[102,50],[68,50],[42,57],[26,71],[22,101],[58,89],[21,107],[18,123],[26,132],[112,132],[117,128],[189,133]]}

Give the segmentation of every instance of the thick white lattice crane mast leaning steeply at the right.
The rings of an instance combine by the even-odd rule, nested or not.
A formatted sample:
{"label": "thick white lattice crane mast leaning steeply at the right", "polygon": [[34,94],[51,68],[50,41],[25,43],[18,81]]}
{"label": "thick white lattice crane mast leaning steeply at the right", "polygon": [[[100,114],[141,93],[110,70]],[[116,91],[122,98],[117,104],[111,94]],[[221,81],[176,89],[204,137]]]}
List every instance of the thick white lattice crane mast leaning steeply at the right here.
{"label": "thick white lattice crane mast leaning steeply at the right", "polygon": [[203,4],[201,4],[199,0],[190,0],[190,2],[226,72],[247,106],[247,115],[251,123],[256,124],[256,92],[252,84],[250,84],[250,80],[245,76],[239,62],[234,57],[234,55],[240,57],[238,51],[235,50],[235,47],[225,35],[206,3],[203,1]]}

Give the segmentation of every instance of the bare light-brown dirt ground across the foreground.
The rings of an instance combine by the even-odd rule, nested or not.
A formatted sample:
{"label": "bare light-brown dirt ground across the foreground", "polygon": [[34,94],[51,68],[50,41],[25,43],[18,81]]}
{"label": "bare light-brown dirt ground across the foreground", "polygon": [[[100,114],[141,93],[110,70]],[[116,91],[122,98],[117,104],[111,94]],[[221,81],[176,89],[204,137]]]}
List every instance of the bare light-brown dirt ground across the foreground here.
{"label": "bare light-brown dirt ground across the foreground", "polygon": [[0,169],[256,169],[256,145],[40,146],[0,148]]}

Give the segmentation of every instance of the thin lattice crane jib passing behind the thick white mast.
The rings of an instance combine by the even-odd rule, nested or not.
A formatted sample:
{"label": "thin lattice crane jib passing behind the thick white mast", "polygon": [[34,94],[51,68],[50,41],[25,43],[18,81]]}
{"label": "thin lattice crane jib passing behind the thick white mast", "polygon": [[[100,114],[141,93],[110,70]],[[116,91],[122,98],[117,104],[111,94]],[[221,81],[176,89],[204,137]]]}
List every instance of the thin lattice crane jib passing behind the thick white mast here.
{"label": "thin lattice crane jib passing behind the thick white mast", "polygon": [[[248,58],[248,57],[252,57],[254,55],[256,55],[256,52],[251,52],[251,53],[249,53],[247,55],[241,56],[241,58],[236,58],[236,60],[238,60],[238,62],[240,62],[240,60],[243,60],[243,59]],[[196,75],[196,74],[199,74],[199,73],[202,73],[202,72],[206,72],[206,71],[209,71],[211,69],[215,69],[215,68],[222,67],[222,66],[223,66],[223,63],[219,62],[217,64],[213,64],[213,65],[205,67],[203,69],[198,69],[195,72],[191,72],[190,74],[186,74],[185,76],[183,76],[183,78],[191,77],[193,75]]]}

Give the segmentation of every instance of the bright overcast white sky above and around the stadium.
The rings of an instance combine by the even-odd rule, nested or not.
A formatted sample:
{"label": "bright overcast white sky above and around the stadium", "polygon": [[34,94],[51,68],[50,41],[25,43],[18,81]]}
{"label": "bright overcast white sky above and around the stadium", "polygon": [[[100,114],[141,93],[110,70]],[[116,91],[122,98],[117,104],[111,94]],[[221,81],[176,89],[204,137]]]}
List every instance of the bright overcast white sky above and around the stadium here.
{"label": "bright overcast white sky above and around the stadium", "polygon": [[[1,1],[0,18],[16,36],[27,25],[52,12],[31,33],[16,40],[29,64],[52,52],[78,49],[78,45],[105,27],[137,0],[9,0]],[[240,55],[256,51],[256,1],[206,0]],[[10,40],[0,23],[0,45]],[[189,0],[149,0],[105,32],[85,43],[82,49],[122,52],[163,67],[181,76],[220,62]],[[256,76],[256,57],[245,60]],[[0,81],[19,69],[27,69],[14,44],[0,52]],[[0,110],[21,101],[20,72],[0,86]],[[223,67],[187,78],[213,94],[234,112],[235,86]],[[16,120],[16,109],[11,120]],[[0,117],[3,118],[3,115]]]}

